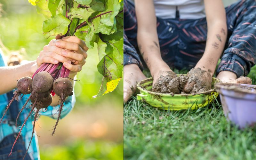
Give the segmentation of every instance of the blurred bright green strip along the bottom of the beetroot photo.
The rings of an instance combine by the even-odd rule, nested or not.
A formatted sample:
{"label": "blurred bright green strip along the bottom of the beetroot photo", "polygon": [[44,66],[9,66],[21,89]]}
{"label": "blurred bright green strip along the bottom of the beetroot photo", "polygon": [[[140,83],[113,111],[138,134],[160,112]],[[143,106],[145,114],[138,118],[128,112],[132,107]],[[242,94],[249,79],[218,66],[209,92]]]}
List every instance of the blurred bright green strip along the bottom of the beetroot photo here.
{"label": "blurred bright green strip along the bottom of the beetroot photo", "polygon": [[51,160],[120,160],[123,145],[104,141],[77,140],[66,146],[49,147],[41,153],[41,159]]}

